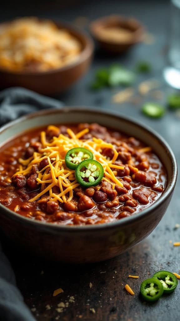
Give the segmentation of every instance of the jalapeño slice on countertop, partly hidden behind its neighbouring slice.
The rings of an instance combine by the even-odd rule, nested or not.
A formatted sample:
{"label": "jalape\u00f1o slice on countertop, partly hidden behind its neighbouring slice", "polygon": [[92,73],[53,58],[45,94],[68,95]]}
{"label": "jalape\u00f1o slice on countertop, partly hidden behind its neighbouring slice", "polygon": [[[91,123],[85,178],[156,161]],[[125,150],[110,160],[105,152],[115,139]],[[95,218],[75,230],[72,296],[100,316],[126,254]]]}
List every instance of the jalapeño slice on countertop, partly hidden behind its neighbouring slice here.
{"label": "jalape\u00f1o slice on countertop, partly hidden behind its neighbouring slice", "polygon": [[173,292],[178,284],[176,276],[168,271],[156,272],[152,277],[160,280],[164,288],[164,293]]}

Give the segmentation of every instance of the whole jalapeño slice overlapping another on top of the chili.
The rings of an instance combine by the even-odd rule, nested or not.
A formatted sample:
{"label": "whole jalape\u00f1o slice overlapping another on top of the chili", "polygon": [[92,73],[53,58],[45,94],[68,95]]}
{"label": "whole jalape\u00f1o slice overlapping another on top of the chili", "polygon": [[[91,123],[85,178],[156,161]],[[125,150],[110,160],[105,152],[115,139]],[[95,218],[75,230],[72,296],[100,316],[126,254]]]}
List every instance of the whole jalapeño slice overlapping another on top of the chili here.
{"label": "whole jalape\u00f1o slice overlapping another on top of the chili", "polygon": [[104,170],[102,165],[93,159],[83,160],[75,171],[77,182],[85,187],[96,186],[102,180]]}

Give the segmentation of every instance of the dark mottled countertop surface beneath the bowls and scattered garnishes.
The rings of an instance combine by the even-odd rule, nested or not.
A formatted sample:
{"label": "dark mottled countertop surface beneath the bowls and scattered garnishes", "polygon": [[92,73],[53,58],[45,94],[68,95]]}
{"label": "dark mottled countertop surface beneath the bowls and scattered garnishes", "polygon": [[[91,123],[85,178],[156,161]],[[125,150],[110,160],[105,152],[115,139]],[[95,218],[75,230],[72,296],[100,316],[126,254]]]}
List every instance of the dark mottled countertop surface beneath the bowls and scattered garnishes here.
{"label": "dark mottled countertop surface beneath the bowls and scattered garnishes", "polygon": [[[57,97],[68,106],[97,106],[115,110],[121,115],[128,115],[147,124],[161,134],[174,151],[178,166],[180,165],[180,118],[177,113],[168,111],[165,117],[151,120],[140,112],[143,101],[154,100],[144,97],[138,105],[133,103],[113,104],[112,94],[118,90],[89,91],[88,87],[93,80],[96,68],[119,62],[129,68],[134,68],[139,60],[148,60],[153,71],[147,76],[138,76],[135,88],[144,79],[155,78],[160,82],[163,95],[158,101],[164,103],[167,94],[172,92],[163,81],[162,69],[166,61],[166,44],[168,40],[169,4],[167,1],[92,1],[91,5],[83,3],[74,4],[69,8],[55,10],[57,2],[52,6],[46,4],[37,12],[33,6],[28,9],[16,10],[13,15],[37,14],[50,18],[64,18],[73,21],[77,16],[86,16],[90,20],[110,14],[120,13],[140,19],[148,32],[153,34],[154,43],[151,45],[139,44],[127,55],[122,57],[108,57],[96,54],[89,73],[83,77],[68,92]],[[48,11],[47,11],[48,8]],[[27,12],[26,12],[27,11]],[[8,11],[4,12],[2,19],[12,18]],[[17,283],[24,295],[25,301],[33,311],[38,321],[178,321],[180,285],[176,291],[163,297],[157,303],[148,304],[139,297],[140,283],[159,270],[179,272],[180,247],[173,247],[173,242],[180,241],[179,210],[179,179],[168,210],[151,235],[123,255],[106,262],[90,265],[63,265],[50,263],[29,257],[28,254],[18,252],[12,254],[6,248],[14,268]],[[170,243],[169,241],[172,241]],[[128,279],[128,274],[139,275],[139,279]],[[90,287],[90,283],[92,286]],[[124,290],[128,283],[135,291],[130,296]],[[53,291],[62,288],[63,293],[53,297]],[[59,309],[58,304],[60,305]],[[48,305],[48,306],[47,306]],[[50,309],[47,309],[47,307]],[[94,310],[90,310],[94,308]]]}

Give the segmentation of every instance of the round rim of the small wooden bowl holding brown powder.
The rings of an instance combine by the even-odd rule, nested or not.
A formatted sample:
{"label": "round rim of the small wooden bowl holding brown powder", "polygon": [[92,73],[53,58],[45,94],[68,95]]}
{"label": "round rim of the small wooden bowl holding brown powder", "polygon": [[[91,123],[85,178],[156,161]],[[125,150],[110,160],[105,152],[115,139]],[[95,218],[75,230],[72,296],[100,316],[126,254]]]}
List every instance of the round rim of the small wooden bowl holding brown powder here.
{"label": "round rim of the small wooden bowl holding brown powder", "polygon": [[[116,22],[133,22],[136,24],[137,29],[133,31],[133,39],[131,41],[110,41],[110,40],[106,40],[106,39],[102,39],[101,36],[99,36],[98,34],[98,28],[100,26],[106,25],[107,22],[111,22],[113,19],[116,20]],[[142,40],[143,37],[143,32],[144,32],[144,26],[143,24],[135,19],[135,18],[131,18],[131,17],[126,17],[126,16],[122,16],[119,14],[110,14],[109,16],[103,16],[100,17],[94,21],[92,21],[90,23],[89,29],[91,31],[91,34],[94,36],[95,39],[97,39],[98,41],[102,42],[102,43],[106,43],[109,45],[116,45],[116,46],[122,46],[122,45],[128,45],[128,44],[135,44],[137,42],[140,42]]]}

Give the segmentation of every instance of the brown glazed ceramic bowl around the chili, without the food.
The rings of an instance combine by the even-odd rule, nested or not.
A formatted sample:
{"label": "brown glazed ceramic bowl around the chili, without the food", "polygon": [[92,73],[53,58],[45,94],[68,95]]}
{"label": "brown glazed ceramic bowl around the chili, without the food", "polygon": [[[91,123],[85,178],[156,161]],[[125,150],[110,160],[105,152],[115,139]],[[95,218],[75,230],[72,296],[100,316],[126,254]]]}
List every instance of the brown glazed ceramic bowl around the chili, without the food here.
{"label": "brown glazed ceramic bowl around the chili, without the food", "polygon": [[1,128],[0,144],[33,127],[81,122],[97,122],[152,146],[166,169],[167,184],[161,197],[142,212],[99,225],[61,226],[32,221],[0,204],[0,229],[11,242],[32,254],[69,263],[103,261],[142,241],[166,212],[177,178],[175,156],[162,137],[127,117],[92,108],[43,110],[21,117]]}

